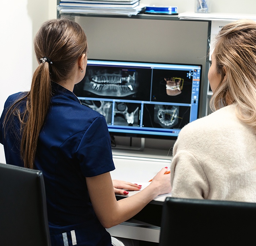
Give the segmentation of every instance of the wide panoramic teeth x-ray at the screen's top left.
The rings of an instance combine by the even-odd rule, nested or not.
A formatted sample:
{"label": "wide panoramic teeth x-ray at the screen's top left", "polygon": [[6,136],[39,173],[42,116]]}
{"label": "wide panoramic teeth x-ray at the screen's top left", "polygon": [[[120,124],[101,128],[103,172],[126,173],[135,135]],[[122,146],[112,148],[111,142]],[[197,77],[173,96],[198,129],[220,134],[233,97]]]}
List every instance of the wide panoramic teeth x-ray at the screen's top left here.
{"label": "wide panoramic teeth x-ray at the screen's top left", "polygon": [[137,92],[136,71],[109,72],[108,70],[93,71],[89,82],[84,85],[86,91],[99,96],[129,96]]}

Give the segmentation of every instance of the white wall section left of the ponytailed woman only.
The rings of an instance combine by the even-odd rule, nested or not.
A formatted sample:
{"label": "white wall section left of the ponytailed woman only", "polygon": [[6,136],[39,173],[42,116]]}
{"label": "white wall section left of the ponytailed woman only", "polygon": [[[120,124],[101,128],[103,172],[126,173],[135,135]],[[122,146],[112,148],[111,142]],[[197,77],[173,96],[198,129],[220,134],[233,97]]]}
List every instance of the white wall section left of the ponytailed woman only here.
{"label": "white wall section left of the ponytailed woman only", "polygon": [[[0,112],[9,95],[29,90],[36,67],[33,38],[45,20],[56,18],[56,3],[56,0],[1,1]],[[0,162],[5,162],[2,145]]]}

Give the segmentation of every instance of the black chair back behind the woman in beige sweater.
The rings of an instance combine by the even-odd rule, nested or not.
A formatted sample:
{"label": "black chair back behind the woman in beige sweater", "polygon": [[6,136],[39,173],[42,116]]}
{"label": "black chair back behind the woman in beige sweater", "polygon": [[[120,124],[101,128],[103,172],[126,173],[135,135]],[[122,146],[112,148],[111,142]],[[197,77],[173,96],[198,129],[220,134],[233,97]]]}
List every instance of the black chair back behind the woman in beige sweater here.
{"label": "black chair back behind the woman in beige sweater", "polygon": [[255,245],[256,203],[167,197],[159,246]]}

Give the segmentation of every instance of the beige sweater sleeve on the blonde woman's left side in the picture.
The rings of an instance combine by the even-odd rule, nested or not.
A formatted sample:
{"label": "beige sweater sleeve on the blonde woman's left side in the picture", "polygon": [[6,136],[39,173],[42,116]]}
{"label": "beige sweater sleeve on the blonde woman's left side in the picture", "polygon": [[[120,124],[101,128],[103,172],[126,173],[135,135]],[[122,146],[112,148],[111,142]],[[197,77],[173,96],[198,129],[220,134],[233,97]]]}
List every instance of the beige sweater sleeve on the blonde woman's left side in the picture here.
{"label": "beige sweater sleeve on the blonde woman's left side in the picture", "polygon": [[209,184],[202,166],[188,151],[178,151],[171,164],[172,196],[204,199],[209,193]]}

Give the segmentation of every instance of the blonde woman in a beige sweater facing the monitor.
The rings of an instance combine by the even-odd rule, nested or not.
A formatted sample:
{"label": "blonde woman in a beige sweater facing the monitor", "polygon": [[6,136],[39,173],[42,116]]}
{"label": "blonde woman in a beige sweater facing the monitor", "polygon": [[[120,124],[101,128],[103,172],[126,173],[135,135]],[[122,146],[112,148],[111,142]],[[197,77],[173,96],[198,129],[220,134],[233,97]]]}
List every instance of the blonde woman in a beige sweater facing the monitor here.
{"label": "blonde woman in a beige sweater facing the monitor", "polygon": [[224,26],[211,60],[215,112],[181,130],[173,149],[172,195],[256,202],[256,22]]}

